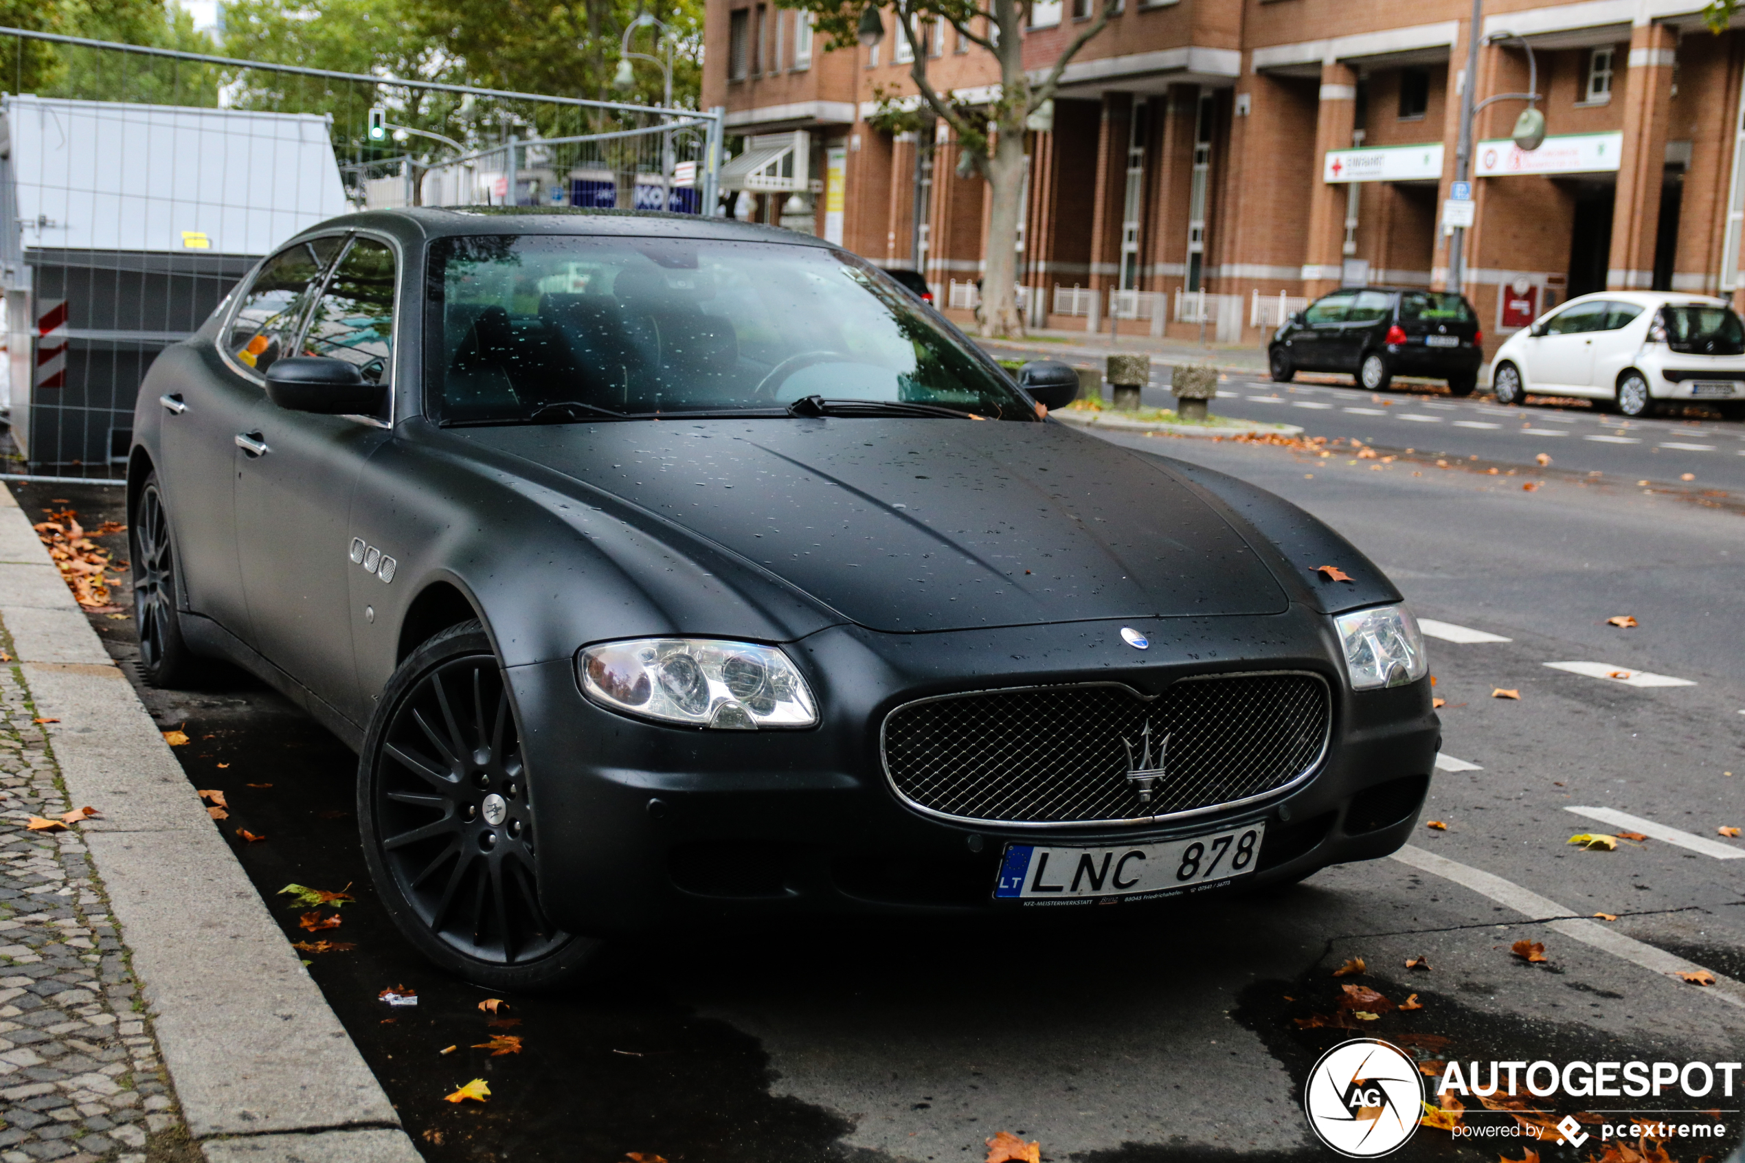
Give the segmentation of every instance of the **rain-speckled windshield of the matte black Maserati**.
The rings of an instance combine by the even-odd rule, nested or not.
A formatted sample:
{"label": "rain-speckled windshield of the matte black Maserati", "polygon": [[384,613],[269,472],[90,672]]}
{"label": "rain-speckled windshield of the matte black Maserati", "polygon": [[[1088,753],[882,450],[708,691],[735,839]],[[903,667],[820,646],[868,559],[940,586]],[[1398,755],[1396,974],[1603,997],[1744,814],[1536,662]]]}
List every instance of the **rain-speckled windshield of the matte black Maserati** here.
{"label": "rain-speckled windshield of the matte black Maserati", "polygon": [[811,396],[1037,418],[911,295],[817,246],[454,237],[431,244],[428,288],[429,410],[443,422],[785,415]]}

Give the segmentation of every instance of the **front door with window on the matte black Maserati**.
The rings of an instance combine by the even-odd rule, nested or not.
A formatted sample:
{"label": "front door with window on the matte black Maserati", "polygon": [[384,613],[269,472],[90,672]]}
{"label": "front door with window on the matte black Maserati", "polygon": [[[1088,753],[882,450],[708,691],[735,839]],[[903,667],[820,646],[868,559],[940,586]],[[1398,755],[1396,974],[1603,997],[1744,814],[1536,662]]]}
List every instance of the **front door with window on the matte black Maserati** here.
{"label": "front door with window on the matte black Maserati", "polygon": [[351,493],[389,438],[396,282],[394,248],[352,237],[297,347],[358,364],[382,385],[377,413],[291,411],[262,396],[237,441],[237,551],[255,649],[352,722]]}

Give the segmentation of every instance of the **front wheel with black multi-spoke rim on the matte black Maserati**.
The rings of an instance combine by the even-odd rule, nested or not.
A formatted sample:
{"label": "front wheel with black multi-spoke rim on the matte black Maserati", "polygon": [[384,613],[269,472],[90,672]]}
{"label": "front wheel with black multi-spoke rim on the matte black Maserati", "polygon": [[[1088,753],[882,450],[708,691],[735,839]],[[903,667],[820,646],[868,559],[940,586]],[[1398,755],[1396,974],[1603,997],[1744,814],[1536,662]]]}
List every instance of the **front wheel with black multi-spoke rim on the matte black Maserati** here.
{"label": "front wheel with black multi-spoke rim on the matte black Maserati", "polygon": [[572,982],[604,950],[544,915],[520,739],[497,654],[468,621],[400,664],[358,760],[363,854],[389,917],[440,968],[497,990]]}

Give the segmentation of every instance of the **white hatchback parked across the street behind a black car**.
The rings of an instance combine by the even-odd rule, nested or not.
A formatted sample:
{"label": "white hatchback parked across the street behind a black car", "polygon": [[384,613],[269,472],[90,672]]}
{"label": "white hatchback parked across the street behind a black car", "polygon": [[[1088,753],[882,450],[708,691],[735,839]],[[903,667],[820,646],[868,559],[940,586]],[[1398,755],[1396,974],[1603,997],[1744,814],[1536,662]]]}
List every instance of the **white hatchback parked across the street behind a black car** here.
{"label": "white hatchback parked across the street behind a black car", "polygon": [[1604,399],[1628,417],[1656,401],[1700,399],[1745,418],[1745,324],[1726,300],[1670,291],[1572,298],[1497,349],[1501,405],[1529,394]]}

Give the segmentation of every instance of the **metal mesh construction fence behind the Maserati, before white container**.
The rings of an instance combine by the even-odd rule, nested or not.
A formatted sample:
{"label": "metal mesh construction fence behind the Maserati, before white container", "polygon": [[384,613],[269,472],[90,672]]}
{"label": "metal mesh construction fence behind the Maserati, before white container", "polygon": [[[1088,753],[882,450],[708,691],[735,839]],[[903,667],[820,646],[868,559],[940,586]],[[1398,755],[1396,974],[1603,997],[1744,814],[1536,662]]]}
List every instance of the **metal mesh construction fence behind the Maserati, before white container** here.
{"label": "metal mesh construction fence behind the Maserati, before white container", "polygon": [[9,474],[117,478],[152,359],[352,209],[715,213],[722,112],[0,28]]}

